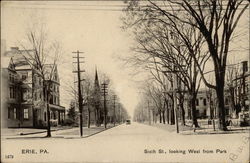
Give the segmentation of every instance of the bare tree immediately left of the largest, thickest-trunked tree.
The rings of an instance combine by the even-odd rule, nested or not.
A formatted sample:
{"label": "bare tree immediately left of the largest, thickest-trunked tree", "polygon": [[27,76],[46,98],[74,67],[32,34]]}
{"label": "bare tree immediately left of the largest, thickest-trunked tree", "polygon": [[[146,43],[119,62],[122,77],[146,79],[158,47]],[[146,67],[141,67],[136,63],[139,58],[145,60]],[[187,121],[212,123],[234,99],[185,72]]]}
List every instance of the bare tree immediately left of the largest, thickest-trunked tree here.
{"label": "bare tree immediately left of the largest, thickest-trunked tree", "polygon": [[[177,75],[181,81],[177,87],[180,88],[182,83],[192,97],[192,119],[195,127],[198,127],[195,100],[201,83],[199,70],[203,72],[209,59],[209,55],[201,50],[204,44],[203,35],[196,28],[185,26],[178,19],[169,19],[160,12],[153,12],[153,7],[138,4],[134,4],[135,9],[130,7],[126,11],[130,16],[124,20],[124,26],[133,30],[138,46],[133,49],[136,54],[128,61],[141,63],[140,65],[149,69],[151,74],[152,71],[156,71],[155,74],[162,72],[169,80],[173,80],[169,73]],[[185,117],[183,91],[185,90],[178,91],[182,119]]]}

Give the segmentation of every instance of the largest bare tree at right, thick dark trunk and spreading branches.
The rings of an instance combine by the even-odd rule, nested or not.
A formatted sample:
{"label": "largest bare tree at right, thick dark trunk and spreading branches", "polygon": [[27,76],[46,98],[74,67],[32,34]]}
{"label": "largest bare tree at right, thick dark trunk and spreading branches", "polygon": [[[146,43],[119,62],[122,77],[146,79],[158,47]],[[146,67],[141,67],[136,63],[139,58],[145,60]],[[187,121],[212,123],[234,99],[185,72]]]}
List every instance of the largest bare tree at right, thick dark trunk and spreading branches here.
{"label": "largest bare tree at right, thick dark trunk and spreading branches", "polygon": [[[211,56],[214,63],[215,85],[209,83],[204,77],[203,64],[201,65],[199,63],[197,56],[194,55],[196,53],[192,52],[193,49],[190,48],[192,46],[186,46],[186,48],[188,48],[189,55],[193,58],[195,67],[198,68],[204,83],[208,87],[216,90],[220,111],[219,127],[222,130],[227,130],[224,108],[224,79],[230,39],[237,27],[240,17],[248,6],[249,3],[244,0],[148,0],[142,3],[138,1],[131,2],[127,8],[127,11],[132,11],[127,12],[128,26],[135,26],[135,24],[138,24],[140,21],[148,21],[148,17],[152,18],[153,15],[154,20],[160,21],[166,26],[169,26],[169,22],[171,22],[173,24],[171,27],[186,45],[190,45],[190,40],[183,35],[179,26],[176,26],[177,24],[185,24],[185,28],[189,28],[188,26],[190,26],[205,38],[209,56]],[[133,22],[133,17],[139,17],[140,19]],[[162,18],[168,21],[164,21]],[[143,26],[139,25],[135,33],[140,28],[143,28]]]}

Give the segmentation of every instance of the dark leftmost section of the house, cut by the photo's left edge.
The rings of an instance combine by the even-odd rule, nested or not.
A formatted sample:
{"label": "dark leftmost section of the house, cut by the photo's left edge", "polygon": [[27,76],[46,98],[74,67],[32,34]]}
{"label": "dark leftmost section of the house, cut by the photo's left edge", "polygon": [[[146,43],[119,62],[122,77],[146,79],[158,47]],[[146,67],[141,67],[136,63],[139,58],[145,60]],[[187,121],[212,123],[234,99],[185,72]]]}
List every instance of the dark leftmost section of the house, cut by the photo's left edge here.
{"label": "dark leftmost section of the house, cut by the photo's left edge", "polygon": [[2,127],[32,127],[31,87],[23,82],[12,57],[2,57],[1,66]]}

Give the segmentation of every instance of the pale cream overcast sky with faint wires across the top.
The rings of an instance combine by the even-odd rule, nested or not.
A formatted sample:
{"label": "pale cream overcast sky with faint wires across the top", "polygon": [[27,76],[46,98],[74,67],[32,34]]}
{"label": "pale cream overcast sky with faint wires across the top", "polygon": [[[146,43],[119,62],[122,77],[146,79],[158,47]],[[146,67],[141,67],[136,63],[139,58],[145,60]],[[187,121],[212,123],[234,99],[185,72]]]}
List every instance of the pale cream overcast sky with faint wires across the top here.
{"label": "pale cream overcast sky with faint wires across the top", "polygon": [[[82,66],[86,72],[94,74],[97,66],[98,70],[108,74],[121,102],[132,115],[139,90],[129,75],[133,69],[125,69],[117,60],[118,56],[130,53],[132,44],[132,39],[120,28],[122,5],[121,1],[4,2],[1,3],[1,39],[6,40],[7,49],[18,46],[18,41],[25,36],[27,24],[37,19],[45,22],[49,36],[59,40],[64,51],[59,64],[61,105],[69,106],[71,96],[66,90],[74,78],[72,52],[79,50],[84,52],[85,63]],[[249,13],[246,13],[239,30],[248,34]],[[246,47],[249,37],[245,35],[239,42]],[[248,52],[243,53],[245,55],[236,55],[236,62],[249,56]]]}

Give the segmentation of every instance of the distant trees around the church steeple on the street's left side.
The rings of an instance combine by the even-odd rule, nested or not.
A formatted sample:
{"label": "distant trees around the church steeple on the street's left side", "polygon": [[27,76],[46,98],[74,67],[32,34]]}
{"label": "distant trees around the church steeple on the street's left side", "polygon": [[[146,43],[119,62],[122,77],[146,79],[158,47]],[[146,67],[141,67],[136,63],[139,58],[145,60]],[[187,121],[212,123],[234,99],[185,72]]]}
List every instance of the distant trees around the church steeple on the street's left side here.
{"label": "distant trees around the church steeple on the street's left side", "polygon": [[[120,102],[113,89],[112,82],[106,74],[100,73],[100,80],[97,70],[95,77],[87,73],[82,76],[84,77],[84,80],[81,82],[83,114],[87,115],[83,116],[83,118],[85,118],[84,120],[87,122],[88,128],[90,128],[91,125],[103,125],[105,128],[107,124],[113,124],[115,126],[116,123],[123,123],[129,118],[127,110]],[[103,83],[106,84],[105,98]],[[70,87],[69,93],[74,100],[70,102],[66,123],[68,125],[79,125],[78,90],[76,87]]]}

